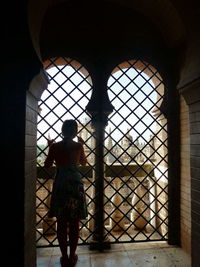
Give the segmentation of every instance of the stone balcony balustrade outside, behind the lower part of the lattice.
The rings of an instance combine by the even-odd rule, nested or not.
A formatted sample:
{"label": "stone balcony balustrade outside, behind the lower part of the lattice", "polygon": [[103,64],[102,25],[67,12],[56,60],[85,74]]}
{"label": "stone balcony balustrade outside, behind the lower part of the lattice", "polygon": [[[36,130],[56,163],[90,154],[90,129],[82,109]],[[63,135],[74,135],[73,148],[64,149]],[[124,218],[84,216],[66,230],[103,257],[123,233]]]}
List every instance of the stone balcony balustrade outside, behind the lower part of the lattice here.
{"label": "stone balcony balustrade outside, behind the lower part of the lattice", "polygon": [[[158,168],[158,167],[157,167]],[[94,175],[80,167],[89,216],[80,222],[79,244],[89,244],[94,232]],[[116,176],[118,173],[118,177]],[[130,175],[130,174],[134,175]],[[167,179],[155,177],[151,163],[105,165],[104,232],[110,243],[167,240]],[[163,170],[162,170],[163,173]],[[148,174],[148,175],[147,175]],[[56,219],[47,216],[55,167],[37,168],[37,246],[56,246]]]}

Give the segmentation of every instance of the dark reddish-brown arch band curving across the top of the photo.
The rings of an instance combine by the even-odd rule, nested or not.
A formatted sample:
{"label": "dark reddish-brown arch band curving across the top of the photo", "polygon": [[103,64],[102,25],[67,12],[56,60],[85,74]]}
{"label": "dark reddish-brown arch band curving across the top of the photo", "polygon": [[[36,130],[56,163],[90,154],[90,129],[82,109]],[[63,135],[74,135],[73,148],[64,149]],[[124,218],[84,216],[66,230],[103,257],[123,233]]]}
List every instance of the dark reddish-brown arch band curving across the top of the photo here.
{"label": "dark reddish-brown arch band curving across the top of the photo", "polygon": [[[41,59],[41,47],[40,47],[40,34],[45,14],[48,9],[54,6],[58,6],[63,3],[70,3],[70,0],[29,0],[28,4],[28,22],[29,29],[32,38],[32,42],[38,57]],[[88,1],[91,3],[90,1]],[[173,6],[168,0],[108,0],[113,5],[126,6],[133,11],[137,11],[140,14],[146,16],[154,25],[160,30],[164,37],[164,40],[169,46],[176,46],[185,39],[186,31],[182,19]],[[78,6],[77,2],[77,6]],[[100,5],[100,3],[96,3]],[[35,14],[37,13],[37,16]],[[172,23],[173,22],[173,23]]]}

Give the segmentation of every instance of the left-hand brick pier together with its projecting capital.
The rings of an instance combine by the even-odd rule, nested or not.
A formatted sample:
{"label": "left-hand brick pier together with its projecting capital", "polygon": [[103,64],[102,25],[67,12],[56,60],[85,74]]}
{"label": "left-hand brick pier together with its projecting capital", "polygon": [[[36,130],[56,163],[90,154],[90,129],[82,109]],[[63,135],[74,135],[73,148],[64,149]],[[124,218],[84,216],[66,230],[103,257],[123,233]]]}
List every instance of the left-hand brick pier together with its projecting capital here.
{"label": "left-hand brick pier together with its projecting capital", "polygon": [[[25,128],[25,229],[24,240],[25,250],[30,253],[25,254],[25,266],[35,266],[35,188],[36,188],[36,140],[37,140],[37,115],[38,98],[46,86],[44,73],[36,75],[29,86],[26,94],[26,128]],[[32,264],[32,265],[31,265]]]}

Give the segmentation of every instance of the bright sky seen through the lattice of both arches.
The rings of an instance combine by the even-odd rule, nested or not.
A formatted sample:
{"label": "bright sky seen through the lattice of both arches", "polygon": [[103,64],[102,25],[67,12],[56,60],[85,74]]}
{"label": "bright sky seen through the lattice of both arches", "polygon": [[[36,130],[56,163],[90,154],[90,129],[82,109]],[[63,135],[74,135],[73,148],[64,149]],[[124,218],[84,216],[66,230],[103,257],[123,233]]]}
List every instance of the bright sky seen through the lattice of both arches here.
{"label": "bright sky seen through the lattice of both arches", "polygon": [[[73,119],[74,116],[77,120],[84,121],[88,117],[84,109],[92,94],[91,84],[87,79],[84,80],[85,76],[81,72],[75,72],[71,66],[63,67],[53,67],[47,70],[54,79],[43,92],[39,102],[38,144],[46,144],[46,139],[41,136],[41,133],[46,138],[56,138],[61,132],[62,121]],[[62,72],[59,72],[59,69]],[[134,79],[134,83],[131,79]],[[150,81],[148,84],[145,79],[148,79],[145,73],[138,76],[138,72],[131,68],[115,72],[108,80],[108,97],[114,106],[114,111],[109,116],[106,132],[111,131],[112,138],[116,141],[127,131],[133,139],[145,131],[142,134],[143,137],[140,138],[141,141],[148,140],[152,134],[146,129],[145,124],[148,126],[153,123],[153,116],[150,116],[151,112],[147,113],[147,110],[153,109],[157,101],[157,93],[153,90],[153,83]],[[123,87],[126,89],[123,90]],[[131,112],[132,110],[134,112]],[[124,121],[125,117],[127,119]],[[49,129],[52,125],[54,129]],[[155,131],[155,127],[156,123],[153,123],[150,129]]]}

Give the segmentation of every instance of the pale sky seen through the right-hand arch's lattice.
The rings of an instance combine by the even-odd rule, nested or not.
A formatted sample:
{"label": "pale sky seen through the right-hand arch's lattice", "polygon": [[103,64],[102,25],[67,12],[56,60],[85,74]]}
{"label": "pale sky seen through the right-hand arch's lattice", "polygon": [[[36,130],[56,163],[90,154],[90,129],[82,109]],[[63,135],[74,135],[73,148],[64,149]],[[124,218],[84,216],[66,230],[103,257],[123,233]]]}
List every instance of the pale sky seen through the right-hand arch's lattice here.
{"label": "pale sky seen through the right-hand arch's lattice", "polygon": [[[145,79],[148,79],[148,76],[144,73],[142,75],[145,79],[140,75],[133,83],[130,79],[136,77],[138,72],[133,68],[123,71],[127,71],[126,75],[128,77],[122,71],[117,71],[108,80],[108,96],[115,108],[113,114],[109,117],[110,124],[108,127],[111,127],[112,132],[114,131],[113,134],[116,138],[122,135],[121,131],[129,131],[133,139],[143,133],[144,139],[149,140],[152,132],[147,130],[146,125],[150,126],[154,121],[150,114],[152,114],[151,110],[157,101],[153,83],[150,82],[151,85],[146,83]],[[123,87],[126,87],[126,89],[123,90]],[[125,117],[126,120],[124,120]],[[133,125],[134,127],[132,127]],[[119,130],[116,126],[119,127]],[[150,129],[155,131],[155,127],[156,123],[153,123]],[[144,141],[142,139],[140,138],[141,141]]]}

